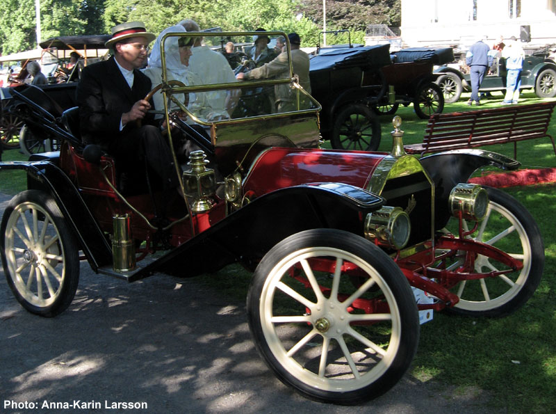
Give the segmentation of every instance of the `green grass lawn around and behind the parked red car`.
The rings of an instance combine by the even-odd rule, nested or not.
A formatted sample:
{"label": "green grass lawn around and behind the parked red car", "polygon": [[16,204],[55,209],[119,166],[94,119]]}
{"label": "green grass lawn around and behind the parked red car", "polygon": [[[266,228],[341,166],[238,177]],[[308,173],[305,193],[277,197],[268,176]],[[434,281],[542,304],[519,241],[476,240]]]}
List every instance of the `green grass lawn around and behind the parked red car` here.
{"label": "green grass lawn around and behind the parked red car", "polygon": [[[459,102],[446,104],[444,111],[469,111],[469,94]],[[520,104],[539,102],[532,92],[522,94]],[[482,99],[480,109],[496,108],[502,93]],[[423,138],[426,120],[413,107],[400,108],[404,143]],[[391,149],[391,116],[383,116],[379,150]],[[556,136],[556,118],[549,129]],[[513,157],[513,145],[491,145],[485,150]],[[23,159],[19,150],[4,152],[3,160]],[[518,143],[521,168],[556,167],[556,155],[548,138]],[[24,188],[22,173],[3,173],[0,191],[14,194]],[[556,184],[505,189],[527,207],[539,224],[546,263],[543,280],[528,303],[502,319],[475,319],[434,314],[422,326],[417,356],[410,374],[419,381],[453,385],[462,393],[480,388],[493,395],[493,408],[517,413],[548,413],[556,407]],[[250,274],[240,266],[197,278],[215,295],[245,300]],[[552,408],[551,408],[552,407]]]}

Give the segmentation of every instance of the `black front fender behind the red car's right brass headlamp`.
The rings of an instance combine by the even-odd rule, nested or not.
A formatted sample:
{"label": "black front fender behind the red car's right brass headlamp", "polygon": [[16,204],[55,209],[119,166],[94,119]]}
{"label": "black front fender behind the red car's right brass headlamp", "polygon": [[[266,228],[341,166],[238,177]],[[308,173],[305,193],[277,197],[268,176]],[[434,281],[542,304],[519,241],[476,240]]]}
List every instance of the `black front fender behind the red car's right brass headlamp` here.
{"label": "black front fender behind the red car's right brass headlamp", "polygon": [[484,150],[452,150],[439,152],[420,159],[434,182],[434,228],[444,227],[450,218],[448,198],[450,191],[460,182],[483,166],[495,166],[502,170],[516,170],[521,163],[496,152]]}

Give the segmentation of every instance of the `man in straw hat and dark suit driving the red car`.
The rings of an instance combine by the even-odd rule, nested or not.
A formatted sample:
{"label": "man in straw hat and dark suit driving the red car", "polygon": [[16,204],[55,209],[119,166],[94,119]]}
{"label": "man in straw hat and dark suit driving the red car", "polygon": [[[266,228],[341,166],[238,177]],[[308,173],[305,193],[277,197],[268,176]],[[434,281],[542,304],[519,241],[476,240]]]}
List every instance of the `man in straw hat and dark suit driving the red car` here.
{"label": "man in straw hat and dark suit driving the red car", "polygon": [[85,143],[100,145],[123,170],[133,170],[146,160],[167,190],[177,186],[177,175],[170,147],[154,117],[147,114],[151,104],[144,98],[151,81],[139,71],[154,38],[142,22],[114,26],[106,42],[113,56],[83,69],[77,103]]}

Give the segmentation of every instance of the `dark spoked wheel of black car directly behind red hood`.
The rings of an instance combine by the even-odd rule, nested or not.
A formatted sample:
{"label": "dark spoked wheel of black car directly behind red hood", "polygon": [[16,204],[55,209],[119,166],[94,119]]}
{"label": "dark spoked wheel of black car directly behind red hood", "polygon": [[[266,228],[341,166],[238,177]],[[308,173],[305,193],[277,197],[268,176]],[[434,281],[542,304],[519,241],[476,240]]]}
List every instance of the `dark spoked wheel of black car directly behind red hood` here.
{"label": "dark spoked wheel of black car directly behind red hood", "polygon": [[330,144],[336,150],[376,151],[380,145],[377,116],[366,105],[347,105],[334,120]]}

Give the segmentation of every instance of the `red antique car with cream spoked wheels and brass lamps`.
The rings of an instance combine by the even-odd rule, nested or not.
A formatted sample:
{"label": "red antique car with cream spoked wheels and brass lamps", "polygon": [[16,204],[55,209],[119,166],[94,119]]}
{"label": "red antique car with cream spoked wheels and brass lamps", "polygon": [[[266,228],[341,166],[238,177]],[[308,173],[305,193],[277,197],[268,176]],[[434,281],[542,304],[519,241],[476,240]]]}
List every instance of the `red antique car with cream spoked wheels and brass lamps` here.
{"label": "red antique car with cream spoked wheels and brass lamps", "polygon": [[[269,84],[311,104],[208,121],[179,99]],[[237,262],[254,272],[247,319],[272,372],[305,397],[357,404],[407,371],[420,318],[507,315],[539,285],[543,242],[533,218],[503,191],[467,183],[477,168],[518,162],[481,150],[417,159],[404,153],[400,118],[391,152],[323,150],[318,102],[293,76],[158,88],[180,109],[165,104],[170,143],[184,134],[202,149],[176,163],[185,196],[164,198],[142,163],[125,170],[83,145],[76,109],[58,118],[13,91],[8,110],[61,142],[57,152],[0,163],[0,173],[27,175],[3,212],[0,255],[29,312],[54,317],[70,306],[80,261],[129,282]]]}

